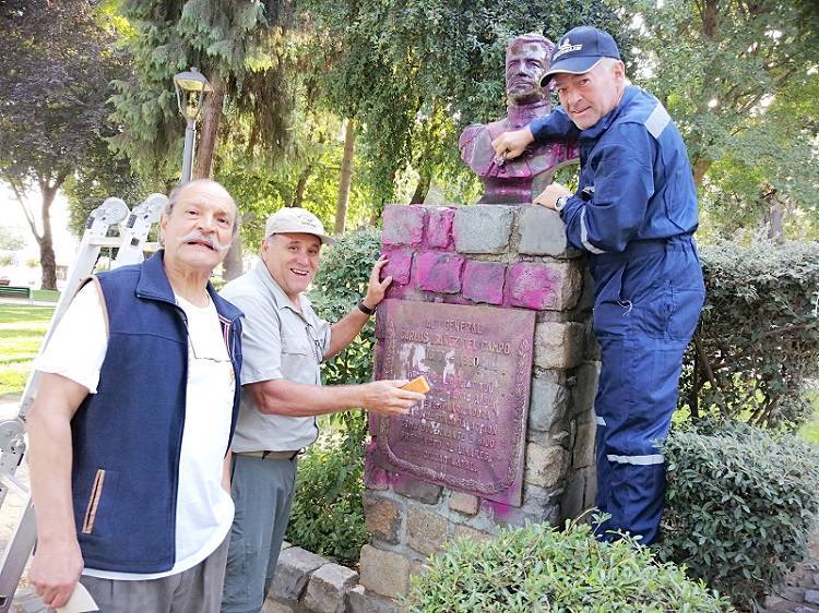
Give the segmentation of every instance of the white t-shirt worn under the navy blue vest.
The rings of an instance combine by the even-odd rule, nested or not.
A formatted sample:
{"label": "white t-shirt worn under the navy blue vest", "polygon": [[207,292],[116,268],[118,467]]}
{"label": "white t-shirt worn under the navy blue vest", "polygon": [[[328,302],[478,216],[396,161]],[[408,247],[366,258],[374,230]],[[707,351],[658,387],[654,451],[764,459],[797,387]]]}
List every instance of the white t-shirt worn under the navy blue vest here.
{"label": "white t-shirt worn under the navy blue vest", "polygon": [[[96,394],[108,347],[106,316],[96,285],[83,287],[34,363],[41,372],[70,378]],[[233,364],[213,302],[200,308],[176,297],[188,316],[188,385],[179,455],[176,507],[176,563],[164,573],[112,573],[85,568],[103,579],[158,579],[192,568],[224,541],[234,518],[230,494],[222,488],[230,435]],[[82,351],[78,351],[78,348]],[[128,385],[127,377],[122,380]]]}

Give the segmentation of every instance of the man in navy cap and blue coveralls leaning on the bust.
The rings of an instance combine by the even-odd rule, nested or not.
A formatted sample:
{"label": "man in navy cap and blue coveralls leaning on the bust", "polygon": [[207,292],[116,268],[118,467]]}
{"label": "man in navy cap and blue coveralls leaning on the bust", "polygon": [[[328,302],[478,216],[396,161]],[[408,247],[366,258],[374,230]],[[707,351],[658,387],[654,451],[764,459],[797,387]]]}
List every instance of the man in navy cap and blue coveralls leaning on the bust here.
{"label": "man in navy cap and blue coveralls leaning on the bust", "polygon": [[657,441],[677,404],[682,353],[704,300],[692,235],[697,193],[682,137],[663,105],[628,85],[610,35],[575,27],[558,41],[541,82],[560,107],[492,142],[499,159],[532,142],[580,144],[575,193],[553,183],[535,199],[555,209],[572,247],[589,254],[602,369],[596,506],[600,531],[657,540],[665,469]]}

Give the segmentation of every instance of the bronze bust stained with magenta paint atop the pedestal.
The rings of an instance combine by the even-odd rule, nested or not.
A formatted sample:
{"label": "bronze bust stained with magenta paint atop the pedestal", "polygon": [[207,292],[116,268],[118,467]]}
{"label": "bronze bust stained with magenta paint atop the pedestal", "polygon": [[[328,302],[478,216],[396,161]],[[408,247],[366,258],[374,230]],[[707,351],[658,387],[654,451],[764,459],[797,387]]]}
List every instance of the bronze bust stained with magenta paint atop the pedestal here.
{"label": "bronze bust stained with magenta paint atop the pedestal", "polygon": [[478,202],[513,204],[532,202],[557,168],[578,157],[574,144],[533,143],[520,157],[498,160],[491,147],[503,132],[519,130],[551,110],[549,94],[541,88],[555,44],[539,34],[513,38],[507,47],[507,117],[491,123],[473,123],[461,133],[461,159],[480,177],[484,195]]}

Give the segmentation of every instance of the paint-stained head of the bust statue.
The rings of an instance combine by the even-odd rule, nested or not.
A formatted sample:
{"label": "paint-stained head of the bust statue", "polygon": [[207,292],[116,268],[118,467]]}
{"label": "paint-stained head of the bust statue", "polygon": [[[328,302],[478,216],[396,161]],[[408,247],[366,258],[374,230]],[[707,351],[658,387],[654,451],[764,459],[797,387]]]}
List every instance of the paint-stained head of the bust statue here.
{"label": "paint-stained head of the bust statue", "polygon": [[513,105],[543,100],[548,92],[541,88],[541,79],[549,68],[555,44],[539,34],[513,38],[507,47],[507,99]]}

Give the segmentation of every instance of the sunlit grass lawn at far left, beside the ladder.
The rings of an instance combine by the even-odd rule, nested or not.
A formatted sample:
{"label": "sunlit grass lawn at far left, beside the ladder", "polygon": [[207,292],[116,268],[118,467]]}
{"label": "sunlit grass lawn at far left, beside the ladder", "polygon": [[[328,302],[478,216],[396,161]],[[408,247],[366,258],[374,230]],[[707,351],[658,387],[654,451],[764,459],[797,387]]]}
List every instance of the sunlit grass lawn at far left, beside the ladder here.
{"label": "sunlit grass lawn at far left, beside the ladder", "polygon": [[0,304],[0,396],[22,394],[51,313],[50,306]]}

